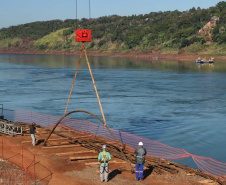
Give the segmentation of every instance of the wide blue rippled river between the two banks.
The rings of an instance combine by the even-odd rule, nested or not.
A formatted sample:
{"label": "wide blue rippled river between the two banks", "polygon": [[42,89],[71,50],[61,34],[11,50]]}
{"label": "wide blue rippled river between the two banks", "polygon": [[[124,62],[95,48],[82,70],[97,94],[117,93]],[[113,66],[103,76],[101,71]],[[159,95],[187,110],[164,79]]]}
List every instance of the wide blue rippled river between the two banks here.
{"label": "wide blue rippled river between the two banks", "polygon": [[[89,60],[110,127],[226,163],[226,63]],[[0,55],[0,103],[62,116],[77,62],[75,56]],[[85,59],[68,107],[72,110],[101,117]]]}

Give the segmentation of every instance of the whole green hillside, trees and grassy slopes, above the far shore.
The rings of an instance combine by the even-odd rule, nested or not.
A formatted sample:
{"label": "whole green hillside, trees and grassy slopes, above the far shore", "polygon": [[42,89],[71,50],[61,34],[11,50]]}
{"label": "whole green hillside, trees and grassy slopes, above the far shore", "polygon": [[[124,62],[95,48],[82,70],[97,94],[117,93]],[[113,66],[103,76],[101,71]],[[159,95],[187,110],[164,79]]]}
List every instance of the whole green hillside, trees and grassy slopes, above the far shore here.
{"label": "whole green hillside, trees and grassy slopes, above the far shore", "polygon": [[[217,16],[210,37],[200,34],[211,17]],[[88,50],[106,52],[161,51],[224,53],[226,46],[226,2],[208,9],[151,12],[145,15],[111,15],[97,19],[81,19],[78,28],[92,30]],[[76,20],[52,20],[11,26],[0,30],[0,49],[76,51]]]}

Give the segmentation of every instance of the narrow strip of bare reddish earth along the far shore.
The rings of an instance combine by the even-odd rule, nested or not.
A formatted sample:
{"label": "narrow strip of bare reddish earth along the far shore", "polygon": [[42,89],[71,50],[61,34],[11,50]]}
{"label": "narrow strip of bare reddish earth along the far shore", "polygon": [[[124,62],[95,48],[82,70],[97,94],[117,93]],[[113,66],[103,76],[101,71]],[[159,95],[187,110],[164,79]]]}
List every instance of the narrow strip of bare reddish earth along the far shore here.
{"label": "narrow strip of bare reddish earth along the far shore", "polygon": [[[0,54],[38,54],[38,55],[80,55],[81,51],[37,51],[37,50],[0,50]],[[108,57],[129,57],[129,58],[141,58],[147,61],[196,61],[198,57],[210,59],[213,57],[216,61],[225,61],[226,56],[219,55],[203,55],[195,53],[172,54],[161,52],[124,52],[124,53],[112,53],[106,51],[87,51],[88,56],[108,56]]]}

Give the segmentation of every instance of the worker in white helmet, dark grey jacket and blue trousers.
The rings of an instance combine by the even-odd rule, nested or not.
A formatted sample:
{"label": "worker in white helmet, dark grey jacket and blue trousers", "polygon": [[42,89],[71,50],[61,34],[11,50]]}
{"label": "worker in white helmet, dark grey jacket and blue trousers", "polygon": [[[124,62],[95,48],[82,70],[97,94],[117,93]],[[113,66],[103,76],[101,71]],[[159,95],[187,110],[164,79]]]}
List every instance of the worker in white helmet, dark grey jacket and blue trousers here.
{"label": "worker in white helmet, dark grey jacket and blue trousers", "polygon": [[134,152],[134,157],[135,157],[135,163],[136,163],[136,180],[143,180],[143,169],[144,169],[144,163],[145,163],[145,158],[144,156],[147,154],[146,149],[143,148],[143,143],[139,142],[138,143],[138,148]]}

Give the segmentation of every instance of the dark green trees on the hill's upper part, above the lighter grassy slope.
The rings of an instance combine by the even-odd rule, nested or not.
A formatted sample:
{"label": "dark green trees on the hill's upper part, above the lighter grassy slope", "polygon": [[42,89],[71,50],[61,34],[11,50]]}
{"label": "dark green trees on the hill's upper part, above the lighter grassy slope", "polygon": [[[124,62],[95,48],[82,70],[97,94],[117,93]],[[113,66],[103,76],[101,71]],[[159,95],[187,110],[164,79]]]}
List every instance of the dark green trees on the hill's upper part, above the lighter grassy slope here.
{"label": "dark green trees on the hill's upper part, above the lighter grassy slope", "polygon": [[[33,22],[0,29],[0,40],[7,38],[29,38],[38,40],[57,30],[63,36],[74,34],[76,28],[91,29],[92,39],[98,39],[98,47],[108,42],[123,44],[127,49],[152,49],[161,47],[183,48],[193,43],[206,43],[205,35],[198,31],[212,16],[220,19],[212,32],[212,40],[226,43],[226,2],[221,1],[208,9],[191,8],[188,11],[151,12],[132,16],[103,16],[97,19],[67,19]],[[91,43],[90,48],[96,43]]]}

